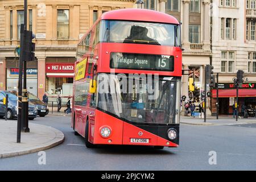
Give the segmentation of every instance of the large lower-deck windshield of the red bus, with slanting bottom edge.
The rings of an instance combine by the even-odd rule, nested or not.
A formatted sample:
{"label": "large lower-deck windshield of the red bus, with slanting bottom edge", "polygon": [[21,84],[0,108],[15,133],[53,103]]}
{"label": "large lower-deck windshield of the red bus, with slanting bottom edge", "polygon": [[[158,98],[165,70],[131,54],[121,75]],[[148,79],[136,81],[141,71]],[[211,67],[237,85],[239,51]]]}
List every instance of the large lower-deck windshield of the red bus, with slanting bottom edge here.
{"label": "large lower-deck windshield of the red bus, with slanting bottom edge", "polygon": [[135,123],[179,123],[179,89],[176,77],[100,73],[97,107]]}

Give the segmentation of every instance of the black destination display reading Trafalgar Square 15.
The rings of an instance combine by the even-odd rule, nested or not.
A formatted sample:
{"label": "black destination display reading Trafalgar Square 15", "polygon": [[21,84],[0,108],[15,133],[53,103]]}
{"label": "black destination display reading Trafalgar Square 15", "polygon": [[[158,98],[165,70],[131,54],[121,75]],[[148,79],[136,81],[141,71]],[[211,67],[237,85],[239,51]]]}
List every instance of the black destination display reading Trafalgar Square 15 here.
{"label": "black destination display reading Trafalgar Square 15", "polygon": [[174,71],[174,56],[112,52],[110,68]]}

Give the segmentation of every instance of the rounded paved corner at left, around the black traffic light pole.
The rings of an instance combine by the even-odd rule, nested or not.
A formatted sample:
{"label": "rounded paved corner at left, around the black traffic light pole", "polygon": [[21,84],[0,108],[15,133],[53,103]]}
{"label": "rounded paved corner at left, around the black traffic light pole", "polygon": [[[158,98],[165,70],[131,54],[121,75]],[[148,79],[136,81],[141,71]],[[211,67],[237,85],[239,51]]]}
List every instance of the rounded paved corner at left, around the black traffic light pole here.
{"label": "rounded paved corner at left, around the black traffic light pole", "polygon": [[0,159],[47,150],[64,141],[64,134],[53,127],[35,123],[29,127],[30,133],[21,133],[16,143],[17,122],[0,120]]}

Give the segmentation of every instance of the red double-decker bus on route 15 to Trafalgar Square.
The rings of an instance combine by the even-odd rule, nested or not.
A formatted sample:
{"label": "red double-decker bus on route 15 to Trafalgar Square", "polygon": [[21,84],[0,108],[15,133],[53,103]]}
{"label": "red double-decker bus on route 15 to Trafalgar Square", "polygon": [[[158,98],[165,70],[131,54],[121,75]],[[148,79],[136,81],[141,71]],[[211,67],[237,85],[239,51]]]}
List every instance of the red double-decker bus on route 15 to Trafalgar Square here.
{"label": "red double-decker bus on route 15 to Trafalgar Square", "polygon": [[144,9],[109,11],[77,46],[72,127],[95,144],[179,145],[180,23]]}

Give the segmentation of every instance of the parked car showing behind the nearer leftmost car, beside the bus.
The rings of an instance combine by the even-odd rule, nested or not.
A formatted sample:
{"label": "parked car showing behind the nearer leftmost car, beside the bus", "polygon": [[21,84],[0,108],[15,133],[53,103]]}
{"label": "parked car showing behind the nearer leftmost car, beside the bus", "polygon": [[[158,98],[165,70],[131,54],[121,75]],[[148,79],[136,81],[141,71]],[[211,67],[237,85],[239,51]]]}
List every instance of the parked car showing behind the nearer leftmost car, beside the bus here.
{"label": "parked car showing behind the nearer leftmost car, beside the bus", "polygon": [[[11,93],[17,94],[16,90],[10,91]],[[27,92],[28,94],[28,101],[32,104],[36,105],[36,109],[38,111],[38,115],[40,117],[45,117],[49,113],[49,109],[47,104],[45,104],[43,101],[41,101],[38,97],[36,97],[34,94]]]}

